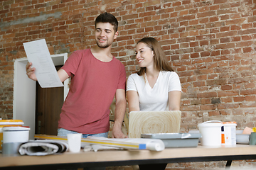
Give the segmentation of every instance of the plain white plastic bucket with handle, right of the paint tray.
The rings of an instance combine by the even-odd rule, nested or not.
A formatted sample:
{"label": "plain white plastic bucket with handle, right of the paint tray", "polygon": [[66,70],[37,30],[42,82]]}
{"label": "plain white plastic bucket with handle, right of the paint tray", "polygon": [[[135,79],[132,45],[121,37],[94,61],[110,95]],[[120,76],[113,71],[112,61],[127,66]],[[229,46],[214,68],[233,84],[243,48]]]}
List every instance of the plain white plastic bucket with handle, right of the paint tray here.
{"label": "plain white plastic bucket with handle, right of the paint tray", "polygon": [[218,120],[210,120],[198,124],[201,133],[201,145],[207,147],[221,146],[221,126],[222,122]]}

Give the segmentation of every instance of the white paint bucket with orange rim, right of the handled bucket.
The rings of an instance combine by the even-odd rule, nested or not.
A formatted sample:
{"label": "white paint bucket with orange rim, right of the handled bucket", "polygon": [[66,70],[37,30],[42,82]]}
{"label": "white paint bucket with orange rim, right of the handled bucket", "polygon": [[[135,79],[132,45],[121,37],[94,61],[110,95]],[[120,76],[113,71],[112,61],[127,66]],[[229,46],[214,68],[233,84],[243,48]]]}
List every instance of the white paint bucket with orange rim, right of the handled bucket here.
{"label": "white paint bucket with orange rim, right of the handled bucket", "polygon": [[236,122],[223,122],[224,145],[236,145]]}

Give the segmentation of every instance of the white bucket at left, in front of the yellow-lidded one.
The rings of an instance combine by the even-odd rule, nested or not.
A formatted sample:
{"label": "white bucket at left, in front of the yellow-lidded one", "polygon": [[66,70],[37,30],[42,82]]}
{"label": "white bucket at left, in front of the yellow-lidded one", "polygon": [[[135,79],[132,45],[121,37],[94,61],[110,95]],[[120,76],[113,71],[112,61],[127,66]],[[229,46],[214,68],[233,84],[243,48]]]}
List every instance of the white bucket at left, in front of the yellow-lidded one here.
{"label": "white bucket at left, in front of the yellow-lidded one", "polygon": [[3,143],[28,142],[30,128],[4,127]]}

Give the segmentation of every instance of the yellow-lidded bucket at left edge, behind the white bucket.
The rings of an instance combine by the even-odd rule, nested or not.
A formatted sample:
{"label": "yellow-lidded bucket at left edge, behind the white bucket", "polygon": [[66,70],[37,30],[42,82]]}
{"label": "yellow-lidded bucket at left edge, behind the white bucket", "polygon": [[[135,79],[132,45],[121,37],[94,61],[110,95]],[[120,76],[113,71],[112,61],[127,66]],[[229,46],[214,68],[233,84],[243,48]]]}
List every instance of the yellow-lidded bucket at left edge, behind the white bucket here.
{"label": "yellow-lidded bucket at left edge, behind the white bucket", "polygon": [[4,127],[17,127],[24,125],[22,120],[0,120],[0,150],[3,146],[3,128]]}

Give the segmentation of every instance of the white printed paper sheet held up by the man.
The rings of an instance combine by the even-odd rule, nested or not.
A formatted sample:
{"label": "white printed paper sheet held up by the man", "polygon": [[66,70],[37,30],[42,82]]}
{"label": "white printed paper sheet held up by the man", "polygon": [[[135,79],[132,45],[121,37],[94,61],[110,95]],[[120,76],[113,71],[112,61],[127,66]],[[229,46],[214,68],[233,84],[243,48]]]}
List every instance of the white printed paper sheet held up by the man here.
{"label": "white printed paper sheet held up by the man", "polygon": [[63,86],[50,57],[46,40],[23,43],[28,61],[36,68],[35,74],[42,88]]}

